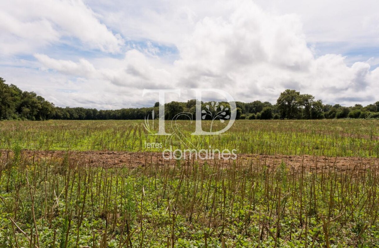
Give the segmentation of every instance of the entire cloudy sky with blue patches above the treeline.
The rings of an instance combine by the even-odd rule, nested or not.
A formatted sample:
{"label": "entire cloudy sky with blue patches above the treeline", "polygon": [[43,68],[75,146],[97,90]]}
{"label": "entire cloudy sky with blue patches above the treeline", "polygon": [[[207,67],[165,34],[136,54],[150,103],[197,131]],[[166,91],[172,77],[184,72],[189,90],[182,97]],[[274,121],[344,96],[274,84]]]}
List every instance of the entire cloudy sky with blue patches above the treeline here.
{"label": "entire cloudy sky with blue patches above the treeline", "polygon": [[[0,77],[56,106],[152,106],[216,88],[276,103],[379,101],[377,0],[3,0]],[[214,96],[215,100],[222,100]]]}

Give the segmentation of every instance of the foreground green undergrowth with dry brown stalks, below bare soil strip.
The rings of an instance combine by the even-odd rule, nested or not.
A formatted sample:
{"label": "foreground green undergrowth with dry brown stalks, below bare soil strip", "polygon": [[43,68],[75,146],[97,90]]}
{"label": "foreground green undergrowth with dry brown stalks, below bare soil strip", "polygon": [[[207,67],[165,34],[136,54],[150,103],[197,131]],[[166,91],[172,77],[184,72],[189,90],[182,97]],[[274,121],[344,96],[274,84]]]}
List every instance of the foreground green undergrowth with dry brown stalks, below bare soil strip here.
{"label": "foreground green undergrowth with dry brown stalks, below bare soil strip", "polygon": [[[0,157],[0,247],[374,247],[378,164]],[[366,169],[369,168],[369,169]],[[13,223],[12,223],[13,222]]]}

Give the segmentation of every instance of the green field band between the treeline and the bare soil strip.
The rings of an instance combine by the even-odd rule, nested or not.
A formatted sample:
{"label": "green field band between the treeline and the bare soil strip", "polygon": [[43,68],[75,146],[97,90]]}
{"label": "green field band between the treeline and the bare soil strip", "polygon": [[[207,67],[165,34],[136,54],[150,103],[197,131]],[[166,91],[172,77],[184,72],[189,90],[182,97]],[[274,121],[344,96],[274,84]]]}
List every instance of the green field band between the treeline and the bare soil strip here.
{"label": "green field band between the treeline and the bare soil strip", "polygon": [[[152,151],[145,143],[166,143],[167,137],[147,135],[143,121],[0,122],[0,148],[14,145],[30,150]],[[188,139],[194,123],[178,121]],[[156,123],[155,128],[157,128]],[[214,122],[215,130],[226,123]],[[207,130],[210,122],[204,122]],[[171,122],[166,131],[172,133]],[[201,148],[236,149],[237,153],[317,156],[379,157],[379,122],[376,120],[237,120],[221,136],[205,136]],[[172,137],[174,148],[182,142]],[[153,151],[160,151],[155,149]]]}

